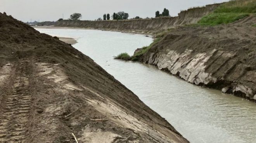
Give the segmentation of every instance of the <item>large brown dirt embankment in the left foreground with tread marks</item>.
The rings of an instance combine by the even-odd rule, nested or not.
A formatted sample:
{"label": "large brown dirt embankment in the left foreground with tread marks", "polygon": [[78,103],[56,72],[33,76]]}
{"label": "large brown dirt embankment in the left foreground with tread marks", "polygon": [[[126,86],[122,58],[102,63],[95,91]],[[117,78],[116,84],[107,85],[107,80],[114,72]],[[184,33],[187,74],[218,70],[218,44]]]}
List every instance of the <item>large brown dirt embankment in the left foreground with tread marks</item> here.
{"label": "large brown dirt embankment in the left foreground with tread marks", "polygon": [[1,13],[0,114],[1,143],[189,142],[88,56]]}

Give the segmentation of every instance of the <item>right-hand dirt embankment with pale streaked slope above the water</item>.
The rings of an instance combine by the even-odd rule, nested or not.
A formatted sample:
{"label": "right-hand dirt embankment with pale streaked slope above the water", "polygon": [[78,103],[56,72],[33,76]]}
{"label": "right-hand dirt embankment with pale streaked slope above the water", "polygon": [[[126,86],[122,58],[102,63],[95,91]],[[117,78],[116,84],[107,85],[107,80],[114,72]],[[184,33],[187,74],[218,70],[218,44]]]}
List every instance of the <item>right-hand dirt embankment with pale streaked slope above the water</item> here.
{"label": "right-hand dirt embankment with pale streaked slope above the water", "polygon": [[138,59],[187,82],[256,100],[256,16],[211,27],[179,27]]}

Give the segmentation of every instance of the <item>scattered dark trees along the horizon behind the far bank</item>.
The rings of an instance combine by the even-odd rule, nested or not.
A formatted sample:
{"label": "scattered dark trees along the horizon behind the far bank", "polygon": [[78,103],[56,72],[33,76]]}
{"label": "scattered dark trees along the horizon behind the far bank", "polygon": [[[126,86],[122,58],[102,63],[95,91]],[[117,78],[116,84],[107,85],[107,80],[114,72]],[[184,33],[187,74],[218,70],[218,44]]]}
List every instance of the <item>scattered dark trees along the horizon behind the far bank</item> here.
{"label": "scattered dark trees along the horizon behind the far bank", "polygon": [[[169,14],[169,10],[164,8],[162,14],[160,14],[160,12],[157,10],[156,11],[156,17],[161,17],[161,16],[170,16]],[[70,15],[69,20],[80,20],[82,17],[82,15],[80,13],[74,13]],[[113,13],[113,15],[111,15],[111,18],[113,20],[123,20],[123,19],[128,19],[129,14],[125,13],[125,12],[117,12],[117,13]],[[134,17],[132,19],[142,19],[141,17]],[[146,19],[149,19],[149,17],[147,17]],[[59,19],[58,21],[61,21],[63,19]],[[97,20],[102,20],[102,18],[98,18]],[[103,14],[103,20],[110,20],[110,14]]]}

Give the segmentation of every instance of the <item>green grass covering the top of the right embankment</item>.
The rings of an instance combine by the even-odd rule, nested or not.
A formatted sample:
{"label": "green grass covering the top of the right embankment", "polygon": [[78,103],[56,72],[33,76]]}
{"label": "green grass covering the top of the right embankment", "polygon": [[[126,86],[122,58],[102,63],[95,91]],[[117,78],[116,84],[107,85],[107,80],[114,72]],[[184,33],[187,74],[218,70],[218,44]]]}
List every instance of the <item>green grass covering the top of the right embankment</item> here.
{"label": "green grass covering the top of the right embankment", "polygon": [[228,24],[256,13],[256,0],[231,0],[223,3],[213,13],[202,17],[198,24]]}

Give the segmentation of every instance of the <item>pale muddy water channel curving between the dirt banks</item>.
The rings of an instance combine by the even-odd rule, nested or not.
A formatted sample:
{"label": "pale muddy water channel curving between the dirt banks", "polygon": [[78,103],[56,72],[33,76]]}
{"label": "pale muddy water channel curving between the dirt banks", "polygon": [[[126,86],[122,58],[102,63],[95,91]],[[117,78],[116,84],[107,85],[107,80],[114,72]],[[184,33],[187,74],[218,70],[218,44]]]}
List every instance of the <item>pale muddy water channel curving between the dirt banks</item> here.
{"label": "pale muddy water channel curving between the dirt banks", "polygon": [[218,90],[187,83],[136,62],[113,60],[152,38],[121,32],[37,29],[60,37],[78,38],[73,45],[133,91],[154,111],[166,118],[191,143],[256,143],[256,104]]}

